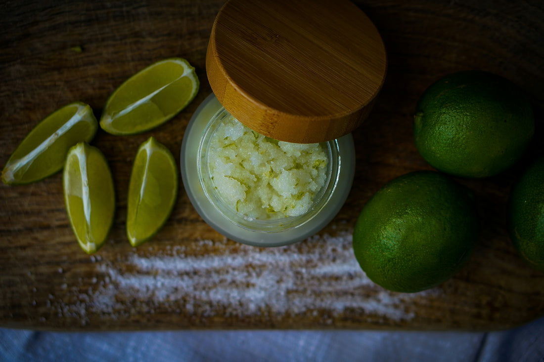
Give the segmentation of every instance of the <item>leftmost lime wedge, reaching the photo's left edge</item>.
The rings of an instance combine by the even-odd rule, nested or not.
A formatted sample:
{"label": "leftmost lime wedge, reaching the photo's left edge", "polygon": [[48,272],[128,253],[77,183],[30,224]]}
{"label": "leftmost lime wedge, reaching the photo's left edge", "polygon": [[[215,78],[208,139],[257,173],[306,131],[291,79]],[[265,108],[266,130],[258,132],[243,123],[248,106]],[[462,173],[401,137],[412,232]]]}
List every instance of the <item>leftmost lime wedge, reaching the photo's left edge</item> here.
{"label": "leftmost lime wedge, reaching the photo's left edge", "polygon": [[54,111],[19,143],[2,170],[2,182],[29,184],[60,171],[70,147],[90,142],[97,129],[98,122],[87,104],[70,103]]}

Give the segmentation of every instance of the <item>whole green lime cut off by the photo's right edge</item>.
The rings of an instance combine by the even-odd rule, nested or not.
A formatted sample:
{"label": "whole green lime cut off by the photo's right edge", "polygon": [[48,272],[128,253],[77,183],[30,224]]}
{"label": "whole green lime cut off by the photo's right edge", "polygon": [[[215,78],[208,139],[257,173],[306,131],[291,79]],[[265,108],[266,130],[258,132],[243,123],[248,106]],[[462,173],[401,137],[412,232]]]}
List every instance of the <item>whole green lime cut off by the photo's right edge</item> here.
{"label": "whole green lime cut off by the photo's right edge", "polygon": [[512,188],[508,230],[521,257],[544,272],[544,157],[535,161]]}

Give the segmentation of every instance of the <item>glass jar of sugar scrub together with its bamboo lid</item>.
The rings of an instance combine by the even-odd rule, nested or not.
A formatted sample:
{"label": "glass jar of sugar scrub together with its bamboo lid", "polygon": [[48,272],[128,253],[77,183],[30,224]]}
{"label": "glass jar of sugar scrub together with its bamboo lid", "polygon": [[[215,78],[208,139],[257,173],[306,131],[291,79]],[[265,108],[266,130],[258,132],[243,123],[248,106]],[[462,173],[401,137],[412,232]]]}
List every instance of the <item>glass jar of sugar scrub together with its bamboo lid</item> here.
{"label": "glass jar of sugar scrub together with its bamboo lid", "polygon": [[[335,36],[339,29],[350,33]],[[319,232],[349,194],[350,132],[384,82],[385,48],[372,22],[349,1],[230,0],[215,19],[206,71],[214,93],[181,149],[196,211],[249,245]]]}

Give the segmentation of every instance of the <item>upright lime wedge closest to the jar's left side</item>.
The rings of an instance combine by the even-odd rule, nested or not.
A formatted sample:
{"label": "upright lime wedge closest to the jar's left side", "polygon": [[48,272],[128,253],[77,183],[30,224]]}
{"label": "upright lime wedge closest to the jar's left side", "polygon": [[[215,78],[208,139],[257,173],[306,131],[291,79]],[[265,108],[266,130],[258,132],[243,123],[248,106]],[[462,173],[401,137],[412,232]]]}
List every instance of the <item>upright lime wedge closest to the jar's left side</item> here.
{"label": "upright lime wedge closest to the jar's left side", "polygon": [[127,236],[132,246],[149,240],[168,220],[177,196],[172,153],[153,137],[138,148],[128,185]]}

